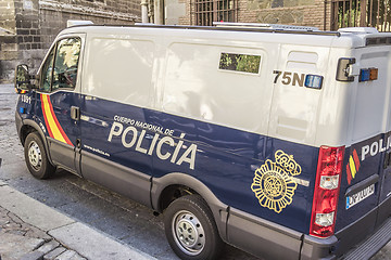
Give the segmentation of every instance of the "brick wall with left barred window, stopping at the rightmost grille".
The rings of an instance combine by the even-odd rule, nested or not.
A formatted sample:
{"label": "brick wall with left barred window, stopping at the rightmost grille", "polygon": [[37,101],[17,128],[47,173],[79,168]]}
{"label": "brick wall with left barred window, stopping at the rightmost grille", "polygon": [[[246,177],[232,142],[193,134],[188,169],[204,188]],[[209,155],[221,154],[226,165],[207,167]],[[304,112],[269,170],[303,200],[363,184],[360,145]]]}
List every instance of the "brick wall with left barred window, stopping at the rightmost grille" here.
{"label": "brick wall with left barred window, stopping at the rightmost grille", "polygon": [[[165,22],[206,26],[213,22],[289,24],[330,29],[330,15],[327,15],[330,3],[325,0],[166,0],[169,18]],[[174,18],[173,13],[177,14]]]}

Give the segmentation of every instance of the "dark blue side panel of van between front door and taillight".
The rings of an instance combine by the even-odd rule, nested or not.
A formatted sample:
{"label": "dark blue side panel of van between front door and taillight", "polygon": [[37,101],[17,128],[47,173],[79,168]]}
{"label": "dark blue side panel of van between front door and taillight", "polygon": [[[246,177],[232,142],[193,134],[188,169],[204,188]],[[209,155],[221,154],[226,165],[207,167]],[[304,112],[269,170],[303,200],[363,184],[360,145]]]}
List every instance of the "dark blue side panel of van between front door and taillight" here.
{"label": "dark blue side panel of van between front door and taillight", "polygon": [[[308,232],[318,148],[98,98],[85,99],[80,104],[80,112],[81,143],[83,148],[88,152],[110,157],[115,162],[153,177],[163,177],[169,172],[193,176],[218,199],[231,207],[299,232]],[[140,123],[151,129],[142,133],[141,141]],[[123,126],[122,129],[119,125]],[[124,142],[127,146],[133,142],[134,129],[129,127],[137,129],[138,139],[131,147],[125,147]],[[123,136],[126,128],[129,129]],[[173,131],[172,135],[164,134],[166,131]],[[166,142],[161,145],[161,155],[171,154],[167,159],[162,159],[162,156],[157,155],[159,141],[154,141],[155,134],[159,134],[159,141],[164,136],[172,136],[174,140],[173,144],[169,138],[166,138]],[[181,134],[185,134],[182,139]],[[177,148],[178,144],[181,147]],[[185,156],[192,144],[197,145],[193,169],[189,162],[191,152]],[[291,202],[285,202],[286,207],[276,210],[273,207],[270,209],[265,205],[261,206],[251,185],[256,169],[267,160],[276,161],[277,151],[283,151],[300,165],[301,174],[297,178],[302,182],[297,185]],[[174,154],[177,156],[173,159]],[[185,156],[185,159],[179,161],[181,156]],[[281,183],[275,185],[277,188],[283,188]],[[282,191],[282,195],[277,199],[281,198],[282,202],[285,196]],[[267,197],[265,199],[267,200]],[[278,210],[280,212],[277,212]]]}

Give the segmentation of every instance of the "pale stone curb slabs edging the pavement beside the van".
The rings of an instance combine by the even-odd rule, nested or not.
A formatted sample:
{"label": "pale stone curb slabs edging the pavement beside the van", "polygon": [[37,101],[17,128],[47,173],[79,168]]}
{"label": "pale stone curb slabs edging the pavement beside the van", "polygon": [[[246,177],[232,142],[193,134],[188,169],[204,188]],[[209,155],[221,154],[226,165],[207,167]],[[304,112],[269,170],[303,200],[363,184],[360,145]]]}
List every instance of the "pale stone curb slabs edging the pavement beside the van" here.
{"label": "pale stone curb slabs edging the pavement beside the van", "polygon": [[[64,250],[70,251],[70,253],[77,252],[83,258],[91,260],[155,259],[28,197],[2,181],[0,181],[0,207],[14,213],[23,222],[46,232],[60,242],[65,247]],[[43,253],[35,250],[27,253],[23,259],[33,260],[42,259],[42,257]]]}

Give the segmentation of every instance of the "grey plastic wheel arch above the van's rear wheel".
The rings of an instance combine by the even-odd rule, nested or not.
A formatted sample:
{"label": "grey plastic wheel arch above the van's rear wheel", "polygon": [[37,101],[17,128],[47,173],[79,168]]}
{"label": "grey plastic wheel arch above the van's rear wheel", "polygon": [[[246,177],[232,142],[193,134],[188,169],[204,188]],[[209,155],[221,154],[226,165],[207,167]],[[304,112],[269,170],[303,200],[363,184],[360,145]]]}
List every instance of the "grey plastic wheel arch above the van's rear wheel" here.
{"label": "grey plastic wheel arch above the van's rear wheel", "polygon": [[173,200],[187,194],[198,194],[206,202],[220,237],[227,240],[226,224],[229,207],[222,203],[204,183],[181,172],[173,172],[152,179],[151,204],[157,212],[163,212]]}

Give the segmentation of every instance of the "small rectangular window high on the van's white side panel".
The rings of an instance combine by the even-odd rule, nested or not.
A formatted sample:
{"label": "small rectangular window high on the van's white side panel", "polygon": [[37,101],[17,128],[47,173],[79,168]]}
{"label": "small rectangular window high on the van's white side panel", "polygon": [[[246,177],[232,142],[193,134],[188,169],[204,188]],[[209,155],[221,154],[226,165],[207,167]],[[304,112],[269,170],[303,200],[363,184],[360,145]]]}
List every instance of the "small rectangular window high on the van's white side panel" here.
{"label": "small rectangular window high on the van's white side panel", "polygon": [[241,73],[260,73],[261,56],[236,54],[236,53],[222,53],[219,61],[219,69],[227,69]]}

